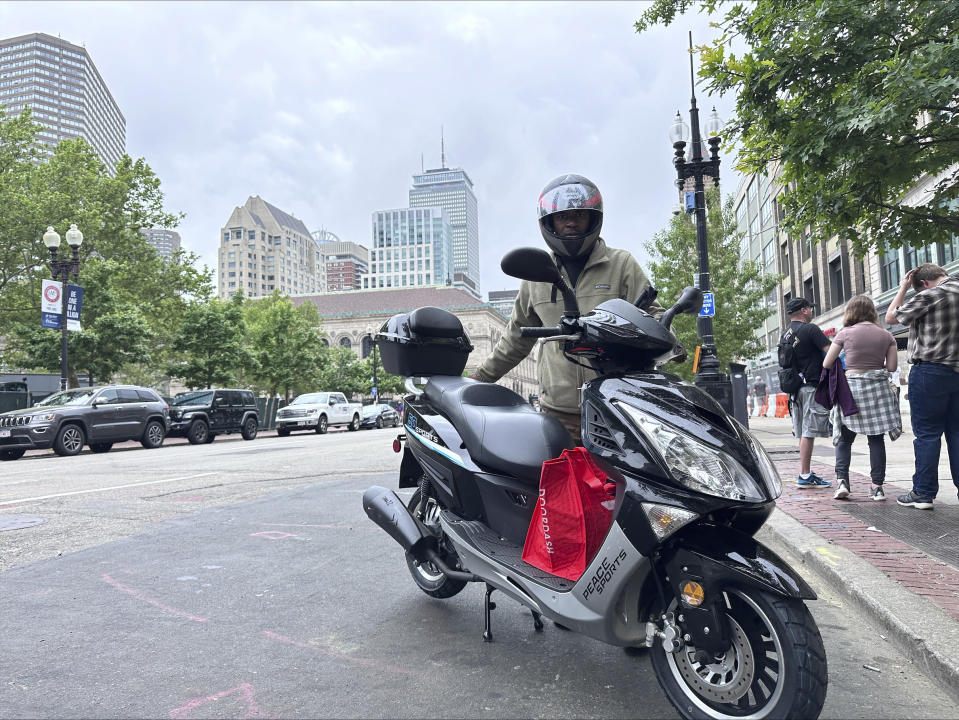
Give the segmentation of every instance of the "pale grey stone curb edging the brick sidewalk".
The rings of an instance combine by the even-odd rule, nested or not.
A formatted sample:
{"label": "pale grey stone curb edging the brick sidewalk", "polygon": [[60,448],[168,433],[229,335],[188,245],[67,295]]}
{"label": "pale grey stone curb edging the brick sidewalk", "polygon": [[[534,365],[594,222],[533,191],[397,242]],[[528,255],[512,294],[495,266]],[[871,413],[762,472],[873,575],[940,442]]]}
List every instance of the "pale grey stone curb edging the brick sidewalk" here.
{"label": "pale grey stone curb edging the brick sidewalk", "polygon": [[811,569],[865,613],[900,652],[959,702],[959,623],[953,618],[779,508],[758,538]]}

